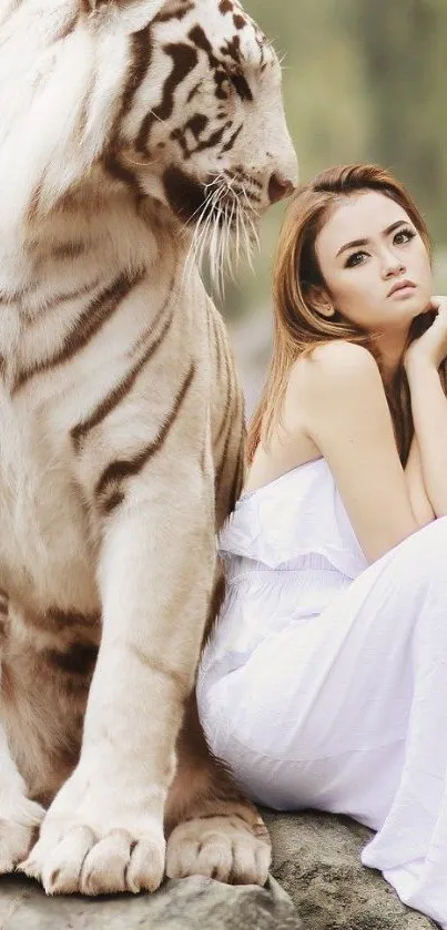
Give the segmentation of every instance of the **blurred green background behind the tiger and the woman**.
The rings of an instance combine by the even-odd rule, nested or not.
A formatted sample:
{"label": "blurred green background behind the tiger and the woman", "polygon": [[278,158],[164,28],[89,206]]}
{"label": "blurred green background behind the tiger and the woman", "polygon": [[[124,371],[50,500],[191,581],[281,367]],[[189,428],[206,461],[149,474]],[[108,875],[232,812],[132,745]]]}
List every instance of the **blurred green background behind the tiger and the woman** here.
{"label": "blurred green background behind the tiger and the woman", "polygon": [[[447,290],[447,0],[244,0],[283,61],[301,181],[332,164],[378,162],[421,208]],[[270,272],[283,206],[263,219],[254,273],[228,283],[248,412],[270,352]]]}

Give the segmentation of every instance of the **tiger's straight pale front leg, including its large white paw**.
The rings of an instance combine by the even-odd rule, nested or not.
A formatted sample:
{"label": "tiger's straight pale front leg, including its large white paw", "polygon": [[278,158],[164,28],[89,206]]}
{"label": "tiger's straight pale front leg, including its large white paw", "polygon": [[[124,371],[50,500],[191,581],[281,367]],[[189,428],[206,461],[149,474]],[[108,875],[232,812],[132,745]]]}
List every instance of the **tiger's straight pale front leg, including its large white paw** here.
{"label": "tiger's straight pale front leg, including its large white paw", "polygon": [[199,484],[183,482],[176,499],[159,487],[108,518],[81,757],[22,865],[47,893],[153,891],[162,881],[164,804],[215,563]]}

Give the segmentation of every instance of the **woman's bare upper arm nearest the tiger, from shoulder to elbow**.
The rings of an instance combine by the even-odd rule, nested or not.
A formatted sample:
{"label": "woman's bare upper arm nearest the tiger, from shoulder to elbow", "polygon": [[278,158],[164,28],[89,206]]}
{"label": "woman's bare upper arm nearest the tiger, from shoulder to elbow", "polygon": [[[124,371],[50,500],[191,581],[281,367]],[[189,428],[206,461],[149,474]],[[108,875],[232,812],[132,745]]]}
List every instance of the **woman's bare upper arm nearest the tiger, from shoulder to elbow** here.
{"label": "woman's bare upper arm nearest the tiger, from shoulder to elbow", "polygon": [[351,343],[319,347],[296,364],[288,391],[328,462],[367,559],[378,559],[428,522],[412,503],[382,377],[367,349]]}

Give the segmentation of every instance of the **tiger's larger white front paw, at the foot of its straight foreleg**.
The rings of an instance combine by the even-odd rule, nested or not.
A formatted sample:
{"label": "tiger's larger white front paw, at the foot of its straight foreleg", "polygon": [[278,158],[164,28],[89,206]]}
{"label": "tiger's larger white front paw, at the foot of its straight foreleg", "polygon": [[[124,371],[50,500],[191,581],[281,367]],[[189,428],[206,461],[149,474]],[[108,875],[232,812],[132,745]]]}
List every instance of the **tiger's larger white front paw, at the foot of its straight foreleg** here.
{"label": "tiger's larger white front paw, at the foot of its straight foreleg", "polygon": [[120,791],[90,783],[85,789],[74,773],[20,870],[40,881],[47,895],[155,891],[164,875],[162,817],[151,811],[150,800],[136,805],[133,797],[132,787]]}

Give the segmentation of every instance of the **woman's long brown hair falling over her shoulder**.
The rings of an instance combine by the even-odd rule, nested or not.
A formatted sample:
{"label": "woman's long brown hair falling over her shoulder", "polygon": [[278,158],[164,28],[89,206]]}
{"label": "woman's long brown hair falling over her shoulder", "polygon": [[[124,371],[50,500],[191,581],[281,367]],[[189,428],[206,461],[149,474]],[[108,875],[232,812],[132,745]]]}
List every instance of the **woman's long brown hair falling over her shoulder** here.
{"label": "woman's long brown hair falling over her shoulder", "polygon": [[[322,172],[294,195],[281,231],[273,269],[273,352],[266,384],[248,428],[248,459],[260,442],[267,442],[281,410],[291,367],[298,356],[323,343],[346,339],[374,351],[370,336],[338,311],[323,317],[313,304],[315,288],[324,287],[315,252],[315,241],[342,197],[378,191],[406,211],[430,255],[427,226],[418,208],[389,172],[379,165],[341,165]],[[410,339],[420,335],[430,320],[414,320]],[[402,367],[386,388],[396,442],[403,463],[408,458],[414,433],[408,381]]]}

